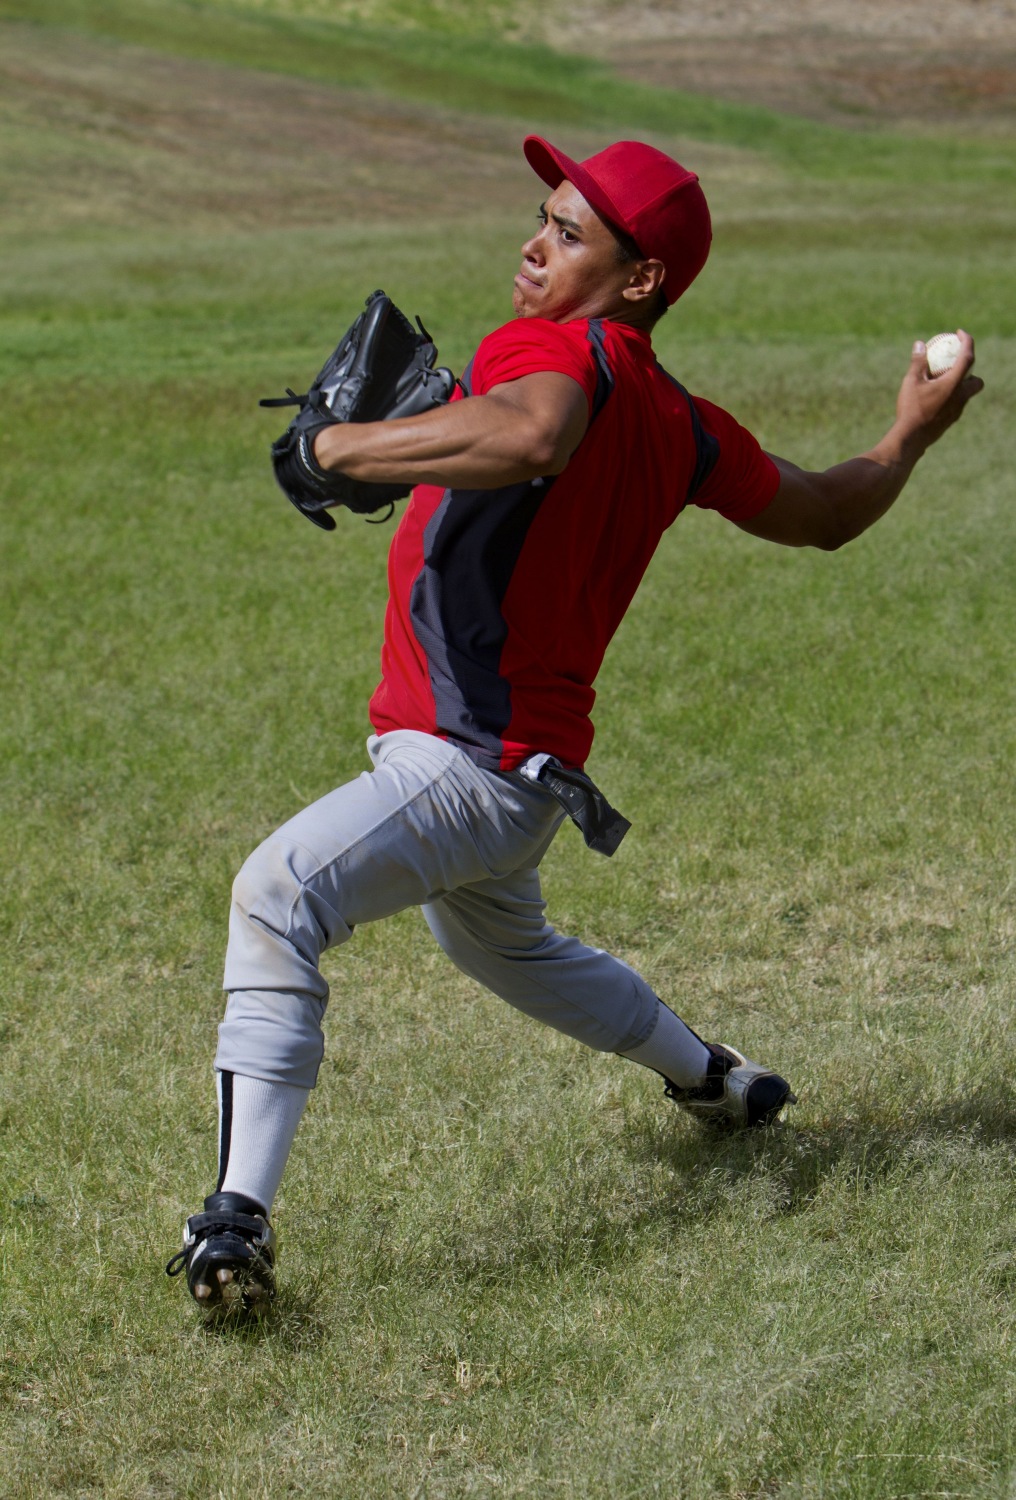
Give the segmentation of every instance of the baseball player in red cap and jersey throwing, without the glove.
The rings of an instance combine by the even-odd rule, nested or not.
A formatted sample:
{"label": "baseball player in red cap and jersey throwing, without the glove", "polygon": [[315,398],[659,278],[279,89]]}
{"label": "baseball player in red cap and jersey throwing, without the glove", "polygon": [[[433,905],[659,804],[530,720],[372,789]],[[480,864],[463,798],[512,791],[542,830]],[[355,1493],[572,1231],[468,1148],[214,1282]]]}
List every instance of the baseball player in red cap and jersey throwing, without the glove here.
{"label": "baseball player in red cap and jersey throwing, without the glove", "polygon": [[593,681],[663,531],[693,504],[785,546],[860,536],[981,388],[974,345],[960,333],[932,380],[915,344],[881,441],[806,472],[653,354],[654,322],[710,249],[696,176],[636,141],[584,162],[537,136],[524,148],[548,190],[515,320],[446,404],[332,422],[299,454],[317,494],[327,476],[414,489],[389,556],[372,770],[272,834],[234,885],[219,1178],[167,1268],[204,1308],[273,1294],[272,1203],[323,1054],[318,960],[407,906],[465,974],[660,1074],[680,1107],[759,1126],[794,1100],[627,964],[555,932],[539,866],[566,816],[605,854],[627,828],[582,770]]}

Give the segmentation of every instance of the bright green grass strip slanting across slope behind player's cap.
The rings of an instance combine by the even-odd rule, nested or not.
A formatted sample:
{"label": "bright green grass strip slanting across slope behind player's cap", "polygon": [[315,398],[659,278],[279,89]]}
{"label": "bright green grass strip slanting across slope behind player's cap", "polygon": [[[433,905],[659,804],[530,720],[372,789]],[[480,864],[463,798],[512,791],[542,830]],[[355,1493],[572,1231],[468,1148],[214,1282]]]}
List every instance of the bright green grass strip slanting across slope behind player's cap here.
{"label": "bright green grass strip slanting across slope behind player's cap", "polygon": [[1013,180],[1004,140],[846,132],[758,105],[735,105],[614,76],[602,63],[495,38],[380,30],[179,0],[0,0],[0,20],[69,28],[231,66],[327,80],[438,106],[641,130],[747,147],[804,172],[984,183]]}

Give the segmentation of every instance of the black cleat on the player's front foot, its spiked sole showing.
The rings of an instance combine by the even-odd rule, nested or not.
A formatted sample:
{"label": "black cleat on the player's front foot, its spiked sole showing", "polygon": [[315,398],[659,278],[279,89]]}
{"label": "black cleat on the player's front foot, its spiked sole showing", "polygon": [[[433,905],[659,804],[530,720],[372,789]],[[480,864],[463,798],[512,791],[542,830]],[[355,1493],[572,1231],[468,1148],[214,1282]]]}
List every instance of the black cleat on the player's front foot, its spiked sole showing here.
{"label": "black cleat on the player's front foot, its spiked sole showing", "polygon": [[206,1311],[261,1311],[275,1296],[275,1230],[260,1203],[213,1192],[183,1226],[183,1250],[165,1269],[168,1276],[186,1270],[191,1296]]}

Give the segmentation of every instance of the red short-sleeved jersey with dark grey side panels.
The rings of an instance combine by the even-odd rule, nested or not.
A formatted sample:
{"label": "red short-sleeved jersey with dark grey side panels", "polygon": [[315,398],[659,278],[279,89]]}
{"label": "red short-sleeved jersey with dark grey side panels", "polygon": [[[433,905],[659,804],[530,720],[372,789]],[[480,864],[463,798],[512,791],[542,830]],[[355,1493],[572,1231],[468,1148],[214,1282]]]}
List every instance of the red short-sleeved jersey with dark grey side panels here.
{"label": "red short-sleeved jersey with dark grey side panels", "polygon": [[545,752],[582,766],[593,682],[666,528],[686,504],[747,520],[779,471],[720,406],[620,322],[521,318],[480,344],[456,399],[539,370],[585,392],[561,474],[503,489],[417,484],[389,554],[378,734],[420,729],[489,771]]}

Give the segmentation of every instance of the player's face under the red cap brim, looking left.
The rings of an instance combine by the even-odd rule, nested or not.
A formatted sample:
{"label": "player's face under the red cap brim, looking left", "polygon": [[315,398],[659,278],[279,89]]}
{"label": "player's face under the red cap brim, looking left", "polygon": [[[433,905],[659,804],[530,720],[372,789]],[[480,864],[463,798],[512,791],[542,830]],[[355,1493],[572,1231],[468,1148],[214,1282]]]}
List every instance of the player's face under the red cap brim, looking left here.
{"label": "player's face under the red cap brim, looking left", "polygon": [[632,266],[620,266],[617,240],[572,183],[555,188],[522,246],[512,303],[518,318],[603,318],[623,312]]}

